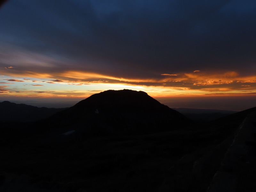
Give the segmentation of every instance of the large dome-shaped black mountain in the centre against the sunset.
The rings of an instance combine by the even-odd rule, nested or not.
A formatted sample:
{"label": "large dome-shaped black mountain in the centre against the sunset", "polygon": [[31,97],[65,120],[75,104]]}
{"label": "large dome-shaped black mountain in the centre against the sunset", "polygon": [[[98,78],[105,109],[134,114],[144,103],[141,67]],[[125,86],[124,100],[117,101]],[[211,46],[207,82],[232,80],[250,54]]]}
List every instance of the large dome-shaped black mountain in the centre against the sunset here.
{"label": "large dome-shaped black mountain in the centre against the sunset", "polygon": [[48,127],[93,134],[144,134],[193,124],[146,92],[108,90],[78,102],[48,120]]}

